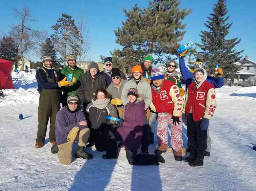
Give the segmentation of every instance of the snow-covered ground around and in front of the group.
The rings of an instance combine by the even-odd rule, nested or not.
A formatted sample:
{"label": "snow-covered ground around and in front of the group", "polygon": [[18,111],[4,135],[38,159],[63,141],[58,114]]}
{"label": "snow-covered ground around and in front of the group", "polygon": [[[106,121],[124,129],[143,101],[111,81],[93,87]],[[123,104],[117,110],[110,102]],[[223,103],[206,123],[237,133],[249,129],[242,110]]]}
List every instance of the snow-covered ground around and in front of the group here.
{"label": "snow-covered ground around and in front of the group", "polygon": [[[15,82],[0,98],[0,190],[256,190],[256,86],[217,89],[217,111],[210,122],[211,157],[190,167],[165,153],[159,166],[131,166],[124,149],[117,160],[86,148],[92,160],[61,165],[46,137],[34,147],[39,94],[34,79]],[[19,114],[24,119],[19,120]],[[186,147],[186,127],[183,128]],[[47,131],[48,135],[48,131]],[[150,146],[153,153],[157,145]],[[77,145],[74,145],[76,147]]]}

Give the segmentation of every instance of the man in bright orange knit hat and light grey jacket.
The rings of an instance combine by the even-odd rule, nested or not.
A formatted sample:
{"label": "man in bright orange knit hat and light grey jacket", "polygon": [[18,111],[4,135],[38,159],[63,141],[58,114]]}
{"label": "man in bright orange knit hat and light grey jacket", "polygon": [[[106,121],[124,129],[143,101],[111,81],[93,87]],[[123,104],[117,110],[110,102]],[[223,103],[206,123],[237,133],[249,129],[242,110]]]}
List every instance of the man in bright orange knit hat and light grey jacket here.
{"label": "man in bright orange knit hat and light grey jacket", "polygon": [[[121,94],[121,100],[123,105],[126,105],[129,103],[127,93],[130,88],[135,88],[138,90],[141,97],[144,97],[145,102],[145,113],[149,109],[150,103],[152,101],[152,94],[151,94],[151,87],[148,82],[145,80],[142,80],[142,69],[140,65],[135,65],[132,68],[132,75],[133,79],[126,82],[123,87],[123,91]],[[142,136],[142,146],[141,146],[141,152],[144,154],[149,154],[148,146],[150,144],[150,127],[149,126],[143,126],[143,136]]]}

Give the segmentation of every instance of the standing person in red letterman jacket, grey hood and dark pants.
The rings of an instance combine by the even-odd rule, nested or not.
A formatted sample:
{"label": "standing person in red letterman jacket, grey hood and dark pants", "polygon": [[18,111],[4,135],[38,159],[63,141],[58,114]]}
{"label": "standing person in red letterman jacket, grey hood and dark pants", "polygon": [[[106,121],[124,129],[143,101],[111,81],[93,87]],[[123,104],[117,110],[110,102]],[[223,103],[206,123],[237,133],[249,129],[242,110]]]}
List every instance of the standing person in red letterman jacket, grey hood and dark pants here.
{"label": "standing person in red letterman jacket, grey hood and dark pants", "polygon": [[216,93],[214,86],[206,81],[207,74],[203,68],[197,68],[194,82],[188,86],[183,118],[187,119],[188,146],[190,156],[183,159],[190,166],[202,166],[207,148],[207,129],[209,120],[216,109]]}

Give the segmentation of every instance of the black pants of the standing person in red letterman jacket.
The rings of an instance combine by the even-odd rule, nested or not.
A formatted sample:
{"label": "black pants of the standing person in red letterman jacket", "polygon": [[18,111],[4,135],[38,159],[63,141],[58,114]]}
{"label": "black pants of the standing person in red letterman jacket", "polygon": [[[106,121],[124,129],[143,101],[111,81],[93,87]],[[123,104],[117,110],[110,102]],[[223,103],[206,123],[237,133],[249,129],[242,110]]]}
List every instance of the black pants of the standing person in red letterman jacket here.
{"label": "black pants of the standing person in red letterman jacket", "polygon": [[201,130],[201,121],[194,121],[192,113],[187,117],[188,125],[188,147],[190,154],[197,158],[204,159],[204,152],[207,148],[207,130]]}

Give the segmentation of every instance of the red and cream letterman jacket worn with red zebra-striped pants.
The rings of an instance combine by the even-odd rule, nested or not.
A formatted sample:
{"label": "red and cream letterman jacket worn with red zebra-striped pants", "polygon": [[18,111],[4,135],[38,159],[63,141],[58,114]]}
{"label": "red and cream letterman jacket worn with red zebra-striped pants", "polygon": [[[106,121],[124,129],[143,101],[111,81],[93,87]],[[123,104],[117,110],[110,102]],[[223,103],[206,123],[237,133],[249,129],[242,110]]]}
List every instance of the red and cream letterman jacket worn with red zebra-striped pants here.
{"label": "red and cream letterman jacket worn with red zebra-striped pants", "polygon": [[184,100],[179,95],[180,90],[178,86],[170,80],[164,80],[159,93],[157,90],[153,89],[152,86],[151,109],[158,113],[166,112],[175,117],[179,117],[182,114]]}

